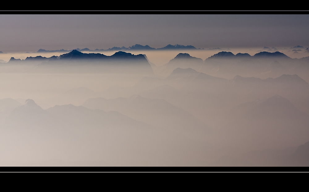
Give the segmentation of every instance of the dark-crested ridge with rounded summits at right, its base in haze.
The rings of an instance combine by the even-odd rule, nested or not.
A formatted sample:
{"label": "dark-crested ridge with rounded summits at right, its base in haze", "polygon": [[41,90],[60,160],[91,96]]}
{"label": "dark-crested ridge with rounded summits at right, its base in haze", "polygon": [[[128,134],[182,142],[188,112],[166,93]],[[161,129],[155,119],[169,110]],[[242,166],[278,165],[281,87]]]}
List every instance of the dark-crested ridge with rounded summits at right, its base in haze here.
{"label": "dark-crested ridge with rounded summits at right, its base in haze", "polygon": [[[275,61],[281,66],[275,64]],[[300,59],[291,59],[278,51],[264,51],[253,56],[222,51],[205,59],[200,72],[227,79],[236,75],[276,78],[282,74],[295,74],[294,68],[301,63]]]}

